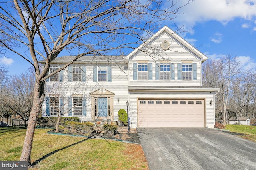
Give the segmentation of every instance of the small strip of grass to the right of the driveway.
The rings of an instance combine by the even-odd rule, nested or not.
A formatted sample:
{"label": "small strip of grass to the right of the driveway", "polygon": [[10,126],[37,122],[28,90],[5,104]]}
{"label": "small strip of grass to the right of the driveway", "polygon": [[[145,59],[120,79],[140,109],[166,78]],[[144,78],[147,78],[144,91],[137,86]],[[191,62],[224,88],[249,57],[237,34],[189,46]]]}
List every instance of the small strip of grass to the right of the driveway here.
{"label": "small strip of grass to the right of the driveway", "polygon": [[240,136],[244,139],[256,142],[256,126],[250,125],[226,125],[226,130],[230,132],[243,133],[245,136]]}

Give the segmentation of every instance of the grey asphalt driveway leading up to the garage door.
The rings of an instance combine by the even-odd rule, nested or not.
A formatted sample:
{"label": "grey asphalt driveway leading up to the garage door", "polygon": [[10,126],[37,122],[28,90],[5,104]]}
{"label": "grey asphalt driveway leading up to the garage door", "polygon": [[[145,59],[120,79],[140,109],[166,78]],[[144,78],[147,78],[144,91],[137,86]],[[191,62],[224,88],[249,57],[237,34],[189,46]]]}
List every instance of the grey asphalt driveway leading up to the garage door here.
{"label": "grey asphalt driveway leading up to the garage door", "polygon": [[255,170],[256,143],[209,128],[138,128],[150,170]]}

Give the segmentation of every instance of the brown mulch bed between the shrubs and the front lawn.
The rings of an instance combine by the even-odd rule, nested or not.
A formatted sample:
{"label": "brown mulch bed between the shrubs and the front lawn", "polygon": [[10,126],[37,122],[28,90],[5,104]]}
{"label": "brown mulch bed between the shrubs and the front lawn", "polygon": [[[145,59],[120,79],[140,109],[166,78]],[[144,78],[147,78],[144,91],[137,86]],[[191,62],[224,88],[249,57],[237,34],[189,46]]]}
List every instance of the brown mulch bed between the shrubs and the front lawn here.
{"label": "brown mulch bed between the shrubs and the front lawn", "polygon": [[[49,132],[55,133],[55,129],[53,129]],[[64,130],[59,129],[58,133],[64,134]],[[73,134],[70,134],[70,135],[73,135]],[[102,138],[108,138],[108,139],[118,139],[118,140],[129,141],[129,142],[140,144],[138,133],[117,133],[115,135],[108,135],[105,133],[92,133],[89,137],[90,138],[102,137]]]}

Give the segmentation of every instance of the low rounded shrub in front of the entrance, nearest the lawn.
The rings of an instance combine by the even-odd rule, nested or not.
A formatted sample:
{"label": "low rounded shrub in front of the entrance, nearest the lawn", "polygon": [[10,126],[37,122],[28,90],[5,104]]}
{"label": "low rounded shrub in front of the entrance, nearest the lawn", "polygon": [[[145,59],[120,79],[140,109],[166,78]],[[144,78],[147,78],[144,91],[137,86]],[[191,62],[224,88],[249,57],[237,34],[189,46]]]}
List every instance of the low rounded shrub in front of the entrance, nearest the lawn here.
{"label": "low rounded shrub in front of the entrance, nearest the lawn", "polygon": [[75,135],[90,135],[94,132],[94,124],[90,122],[80,123],[74,121],[66,121],[64,124],[65,130],[67,132],[73,133]]}

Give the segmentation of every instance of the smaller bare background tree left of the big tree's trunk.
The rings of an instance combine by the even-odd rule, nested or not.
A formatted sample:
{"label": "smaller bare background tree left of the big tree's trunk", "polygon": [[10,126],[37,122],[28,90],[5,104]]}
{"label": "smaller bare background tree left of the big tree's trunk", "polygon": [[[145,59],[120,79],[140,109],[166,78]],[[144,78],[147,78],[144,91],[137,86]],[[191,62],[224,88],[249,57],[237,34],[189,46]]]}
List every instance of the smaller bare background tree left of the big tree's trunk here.
{"label": "smaller bare background tree left of the big tree's trunk", "polygon": [[12,110],[13,116],[19,116],[25,122],[29,119],[29,113],[33,104],[34,74],[32,70],[23,74],[10,76],[4,103]]}

